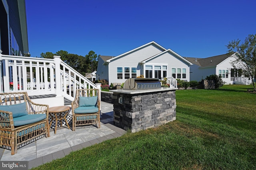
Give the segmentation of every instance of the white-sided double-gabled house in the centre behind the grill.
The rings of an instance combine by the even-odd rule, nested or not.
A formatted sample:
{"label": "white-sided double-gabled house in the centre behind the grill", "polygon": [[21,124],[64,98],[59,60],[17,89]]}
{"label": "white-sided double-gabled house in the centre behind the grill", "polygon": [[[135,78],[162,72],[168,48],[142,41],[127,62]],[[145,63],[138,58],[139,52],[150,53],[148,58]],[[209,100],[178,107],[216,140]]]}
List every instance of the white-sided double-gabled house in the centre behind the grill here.
{"label": "white-sided double-gabled house in the centre behind the grill", "polygon": [[174,77],[190,81],[190,65],[192,63],[174,51],[152,41],[116,57],[99,56],[97,76],[113,85],[140,75],[144,78]]}

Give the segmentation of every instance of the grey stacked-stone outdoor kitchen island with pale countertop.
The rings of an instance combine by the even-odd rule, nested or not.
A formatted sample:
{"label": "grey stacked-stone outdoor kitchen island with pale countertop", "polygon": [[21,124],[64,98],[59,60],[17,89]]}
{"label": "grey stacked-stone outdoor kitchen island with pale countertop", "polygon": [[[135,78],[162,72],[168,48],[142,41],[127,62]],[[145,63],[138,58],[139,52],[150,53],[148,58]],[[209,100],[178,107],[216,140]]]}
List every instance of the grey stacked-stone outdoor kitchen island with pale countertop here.
{"label": "grey stacked-stone outdoor kitchen island with pale countertop", "polygon": [[[136,80],[132,80],[132,84],[134,82],[137,87],[155,84],[151,81],[137,84]],[[114,98],[114,125],[134,133],[176,120],[176,89],[157,87],[111,90]]]}

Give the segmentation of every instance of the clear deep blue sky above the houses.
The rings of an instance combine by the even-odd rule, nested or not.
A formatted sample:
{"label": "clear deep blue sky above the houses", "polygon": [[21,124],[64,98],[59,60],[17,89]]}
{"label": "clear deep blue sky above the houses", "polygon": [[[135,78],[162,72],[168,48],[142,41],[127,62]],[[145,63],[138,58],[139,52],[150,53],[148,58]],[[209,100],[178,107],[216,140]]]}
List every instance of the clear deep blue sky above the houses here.
{"label": "clear deep blue sky above the houses", "polygon": [[227,52],[256,34],[255,0],[26,0],[31,57],[117,56],[155,41],[183,57]]}

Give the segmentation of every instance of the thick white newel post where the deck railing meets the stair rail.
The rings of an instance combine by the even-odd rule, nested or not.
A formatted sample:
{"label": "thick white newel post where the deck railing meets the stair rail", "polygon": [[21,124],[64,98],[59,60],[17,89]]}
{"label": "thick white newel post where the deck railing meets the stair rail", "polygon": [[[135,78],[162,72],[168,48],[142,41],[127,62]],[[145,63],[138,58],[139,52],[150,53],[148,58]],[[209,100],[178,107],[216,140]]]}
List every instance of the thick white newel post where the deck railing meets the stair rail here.
{"label": "thick white newel post where the deck railing meets the stair rail", "polygon": [[61,84],[61,75],[60,75],[60,56],[54,55],[54,64],[55,64],[55,82],[56,82],[56,88],[55,88],[55,94],[56,97],[62,96],[62,84]]}

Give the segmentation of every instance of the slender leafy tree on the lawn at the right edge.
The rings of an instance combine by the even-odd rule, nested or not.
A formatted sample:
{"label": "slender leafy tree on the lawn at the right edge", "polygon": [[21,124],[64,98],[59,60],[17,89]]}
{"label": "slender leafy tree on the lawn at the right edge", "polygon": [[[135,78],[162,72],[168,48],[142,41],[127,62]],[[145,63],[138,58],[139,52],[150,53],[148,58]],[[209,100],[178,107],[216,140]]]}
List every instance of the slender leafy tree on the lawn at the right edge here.
{"label": "slender leafy tree on the lawn at the right edge", "polygon": [[256,34],[249,34],[243,43],[239,39],[233,40],[226,47],[228,48],[228,53],[234,53],[233,56],[236,58],[232,62],[233,66],[234,64],[238,64],[238,67],[243,70],[243,73],[250,76],[254,90],[256,90],[254,84],[254,78],[256,76]]}

